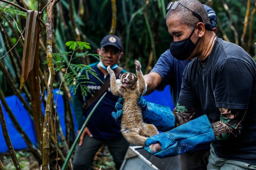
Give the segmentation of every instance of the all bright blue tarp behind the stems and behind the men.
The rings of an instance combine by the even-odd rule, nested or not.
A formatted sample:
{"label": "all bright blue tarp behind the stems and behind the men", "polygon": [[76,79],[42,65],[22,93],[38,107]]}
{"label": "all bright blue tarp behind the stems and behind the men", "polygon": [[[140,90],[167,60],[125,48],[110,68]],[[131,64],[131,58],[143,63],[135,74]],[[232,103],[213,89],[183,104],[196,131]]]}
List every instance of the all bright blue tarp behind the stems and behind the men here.
{"label": "all bright blue tarp behind the stems and behind the men", "polygon": [[[58,95],[58,89],[55,89],[54,95],[53,95],[54,104],[55,104],[57,95]],[[35,129],[34,129],[34,123],[33,123],[32,119],[30,118],[29,114],[27,113],[26,109],[22,106],[22,103],[20,102],[20,100],[18,98],[17,98],[17,103],[16,103],[16,98],[17,98],[16,96],[9,96],[9,97],[6,97],[5,99],[9,105],[10,109],[12,110],[13,114],[15,115],[18,123],[20,123],[20,126],[26,132],[26,134],[30,138],[31,142],[35,146],[37,146],[37,139],[36,139],[36,133],[35,133]],[[174,106],[172,104],[172,100],[171,100],[169,86],[166,86],[166,88],[162,92],[154,91],[152,94],[150,94],[148,96],[144,96],[144,98],[150,102],[154,102],[154,103],[165,105],[165,106],[170,106],[171,110],[174,108]],[[2,106],[2,109],[4,112],[7,130],[8,130],[9,136],[11,138],[11,142],[12,142],[14,149],[18,150],[18,149],[27,148],[25,141],[23,140],[21,135],[18,133],[18,131],[14,128],[14,125],[13,125],[10,117],[6,113],[5,108],[3,106]],[[42,111],[43,111],[43,113],[45,112],[43,105],[42,105]],[[62,127],[63,133],[64,133],[64,135],[66,135],[65,134],[66,128],[65,128],[65,118],[64,118],[64,107],[63,107],[62,95],[58,96],[57,113],[59,115],[60,125]],[[73,118],[75,118],[74,114],[73,114]],[[75,123],[75,131],[77,131],[76,123]],[[0,132],[2,134],[1,127],[0,127]],[[0,135],[0,143],[1,143],[0,152],[1,153],[7,152],[8,149],[7,149],[3,135]]]}

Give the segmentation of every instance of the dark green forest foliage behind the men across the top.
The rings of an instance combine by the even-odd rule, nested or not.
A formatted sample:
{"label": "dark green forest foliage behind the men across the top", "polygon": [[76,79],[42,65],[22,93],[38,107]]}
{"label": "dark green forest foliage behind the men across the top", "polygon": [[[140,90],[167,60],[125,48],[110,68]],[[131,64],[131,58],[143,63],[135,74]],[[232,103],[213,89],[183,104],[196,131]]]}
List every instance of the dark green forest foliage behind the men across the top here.
{"label": "dark green forest foliage behind the men across the top", "polygon": [[[13,1],[13,0],[11,0]],[[19,2],[19,1],[13,1]],[[37,1],[26,0],[27,6],[30,10],[37,10]],[[53,52],[65,52],[67,47],[66,41],[74,41],[75,37],[71,27],[71,20],[69,17],[70,3],[74,5],[74,21],[78,30],[81,33],[81,41],[89,42],[91,46],[91,53],[96,53],[96,49],[99,47],[100,41],[103,36],[110,32],[112,10],[111,0],[61,0],[55,6],[53,16],[53,35],[54,35],[54,51]],[[80,2],[80,3],[79,3]],[[82,3],[81,3],[82,2]],[[169,48],[171,43],[170,35],[165,24],[166,5],[169,0],[117,0],[117,26],[116,32],[123,42],[124,57],[121,59],[121,66],[127,70],[135,71],[133,60],[138,59],[143,64],[142,69],[144,73],[147,73],[156,63],[162,52]],[[212,7],[218,16],[218,33],[220,38],[223,35],[231,41],[235,42],[235,33],[230,29],[230,19],[232,19],[232,25],[236,29],[239,45],[241,45],[241,35],[243,32],[245,13],[246,13],[246,0],[201,0],[202,3]],[[227,11],[223,4],[229,7]],[[8,31],[8,36],[11,37],[15,43],[17,38],[14,36],[13,30],[8,30],[7,22],[12,21],[12,18],[16,18],[18,24],[23,24],[20,27],[24,27],[25,12],[20,11],[10,5],[6,5],[0,2],[0,19],[3,22],[3,26]],[[18,4],[21,4],[18,3]],[[46,5],[46,1],[40,1],[40,8]],[[251,0],[250,13],[255,7],[255,1]],[[8,15],[5,15],[5,14]],[[4,16],[5,15],[5,16]],[[23,19],[22,19],[23,18]],[[46,12],[42,12],[42,19],[45,21]],[[242,47],[247,50],[251,56],[254,56],[254,42],[255,42],[255,19],[252,20],[252,33],[249,34],[249,28],[247,28],[244,41],[248,42],[249,38],[252,40],[250,48],[248,44]],[[12,24],[15,24],[14,22]],[[220,29],[221,27],[221,29]],[[15,30],[17,31],[17,30]],[[42,35],[44,29],[42,29]],[[0,36],[1,41],[1,36]],[[6,52],[4,43],[0,46],[0,55]],[[8,49],[8,48],[7,48]],[[17,46],[17,50],[22,54],[22,47]],[[150,51],[153,50],[153,62],[148,65]],[[41,53],[42,58],[45,57],[45,53]],[[95,58],[90,58],[90,63],[97,61]],[[77,60],[76,63],[81,62]],[[86,61],[84,61],[86,63]],[[7,64],[7,63],[6,63]],[[88,64],[88,63],[87,63]],[[11,65],[11,64],[10,64]],[[146,68],[148,70],[146,72]],[[12,73],[12,68],[10,72]],[[12,73],[14,74],[14,73]]]}

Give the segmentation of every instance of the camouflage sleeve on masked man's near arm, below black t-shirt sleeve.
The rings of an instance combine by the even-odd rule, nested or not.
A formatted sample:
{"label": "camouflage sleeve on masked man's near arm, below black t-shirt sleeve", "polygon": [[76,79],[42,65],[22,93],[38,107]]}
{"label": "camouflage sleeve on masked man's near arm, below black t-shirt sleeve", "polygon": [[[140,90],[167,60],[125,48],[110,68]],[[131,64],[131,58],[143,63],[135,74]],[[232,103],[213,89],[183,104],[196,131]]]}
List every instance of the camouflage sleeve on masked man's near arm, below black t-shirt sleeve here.
{"label": "camouflage sleeve on masked man's near arm, below black t-shirt sleeve", "polygon": [[220,120],[212,123],[217,140],[237,137],[242,130],[242,122],[246,115],[246,109],[219,108]]}

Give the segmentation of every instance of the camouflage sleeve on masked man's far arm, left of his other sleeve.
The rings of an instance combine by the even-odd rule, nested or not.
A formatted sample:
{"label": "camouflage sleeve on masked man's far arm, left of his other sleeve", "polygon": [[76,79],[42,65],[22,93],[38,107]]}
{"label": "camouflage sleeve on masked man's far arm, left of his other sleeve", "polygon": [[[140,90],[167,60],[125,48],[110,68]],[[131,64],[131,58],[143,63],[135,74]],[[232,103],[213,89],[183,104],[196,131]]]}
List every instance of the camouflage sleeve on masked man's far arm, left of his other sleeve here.
{"label": "camouflage sleeve on masked man's far arm, left of his other sleeve", "polygon": [[174,110],[172,111],[172,114],[175,117],[176,126],[180,126],[180,125],[190,121],[195,113],[196,113],[196,108],[182,106],[178,103],[177,103],[176,107],[174,108]]}

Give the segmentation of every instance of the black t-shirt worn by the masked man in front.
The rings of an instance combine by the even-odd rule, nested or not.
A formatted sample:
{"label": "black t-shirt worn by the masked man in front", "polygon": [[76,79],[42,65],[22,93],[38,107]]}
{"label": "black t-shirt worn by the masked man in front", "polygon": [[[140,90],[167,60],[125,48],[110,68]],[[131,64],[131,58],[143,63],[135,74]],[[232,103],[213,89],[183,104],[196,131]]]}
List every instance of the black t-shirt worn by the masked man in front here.
{"label": "black t-shirt worn by the masked man in front", "polygon": [[217,38],[203,69],[196,58],[182,78],[178,103],[202,105],[211,123],[218,108],[248,109],[241,134],[212,143],[217,156],[256,165],[256,64],[240,46]]}

